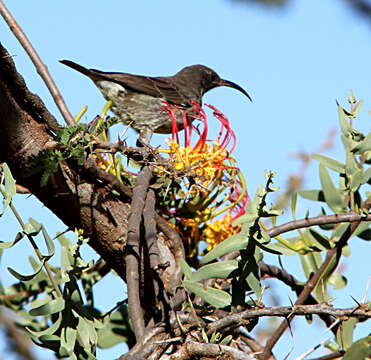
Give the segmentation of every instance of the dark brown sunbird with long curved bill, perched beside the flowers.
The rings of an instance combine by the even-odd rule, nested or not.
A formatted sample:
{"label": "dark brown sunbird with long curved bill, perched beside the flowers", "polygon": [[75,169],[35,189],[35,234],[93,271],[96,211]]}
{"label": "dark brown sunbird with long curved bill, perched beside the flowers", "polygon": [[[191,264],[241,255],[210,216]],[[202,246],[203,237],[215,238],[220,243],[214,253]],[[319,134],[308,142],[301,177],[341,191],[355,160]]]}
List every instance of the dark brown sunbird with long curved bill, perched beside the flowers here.
{"label": "dark brown sunbird with long curved bill, perched beside the flowers", "polygon": [[[202,105],[203,95],[219,86],[234,88],[250,101],[250,95],[236,83],[221,79],[212,69],[204,65],[191,65],[173,76],[143,76],[119,72],[104,72],[88,69],[70,60],[60,60],[66,66],[89,77],[99,88],[107,101],[111,100],[111,111],[126,125],[139,133],[139,140],[147,143],[153,133],[170,134],[172,121],[164,111],[164,102],[178,106],[190,115],[194,103]],[[184,121],[176,112],[178,130],[184,128]]]}

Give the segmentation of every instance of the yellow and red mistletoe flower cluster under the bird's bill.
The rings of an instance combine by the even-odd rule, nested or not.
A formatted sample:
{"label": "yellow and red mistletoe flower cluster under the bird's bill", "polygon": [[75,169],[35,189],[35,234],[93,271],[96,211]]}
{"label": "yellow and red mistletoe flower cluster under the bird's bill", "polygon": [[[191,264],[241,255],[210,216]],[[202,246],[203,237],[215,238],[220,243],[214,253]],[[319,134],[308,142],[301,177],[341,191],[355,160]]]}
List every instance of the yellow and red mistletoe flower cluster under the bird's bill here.
{"label": "yellow and red mistletoe flower cluster under the bird's bill", "polygon": [[[206,105],[206,104],[205,104]],[[236,136],[230,127],[228,118],[212,105],[206,105],[213,111],[213,116],[220,123],[218,136],[214,140],[207,138],[208,124],[205,110],[196,103],[190,112],[168,103],[164,110],[168,112],[172,124],[172,138],[169,149],[162,149],[177,170],[192,170],[196,174],[192,181],[184,180],[182,201],[174,213],[178,214],[180,224],[185,230],[188,243],[196,244],[205,240],[208,250],[215,244],[239,231],[232,222],[240,216],[248,201],[245,182],[235,160],[231,156],[236,145]],[[180,144],[176,115],[183,119],[184,145]],[[193,122],[191,121],[193,120]],[[197,121],[201,125],[195,125]],[[195,138],[196,134],[196,139]],[[194,143],[194,145],[192,145]],[[215,217],[222,218],[215,220]],[[191,249],[189,253],[194,253]]]}

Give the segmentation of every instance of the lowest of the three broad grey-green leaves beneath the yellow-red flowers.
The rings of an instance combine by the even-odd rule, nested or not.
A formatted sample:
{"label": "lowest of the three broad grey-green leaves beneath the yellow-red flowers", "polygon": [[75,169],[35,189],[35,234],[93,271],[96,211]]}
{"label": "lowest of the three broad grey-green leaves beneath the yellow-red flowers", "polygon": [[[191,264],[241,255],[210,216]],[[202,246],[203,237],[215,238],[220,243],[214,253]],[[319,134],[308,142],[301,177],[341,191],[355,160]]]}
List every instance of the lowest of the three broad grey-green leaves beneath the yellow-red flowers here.
{"label": "lowest of the three broad grey-green leaves beneath the yellow-red flowers", "polygon": [[224,308],[232,303],[232,296],[223,290],[214,289],[209,286],[204,289],[203,284],[190,280],[184,280],[184,285],[189,291],[217,309]]}

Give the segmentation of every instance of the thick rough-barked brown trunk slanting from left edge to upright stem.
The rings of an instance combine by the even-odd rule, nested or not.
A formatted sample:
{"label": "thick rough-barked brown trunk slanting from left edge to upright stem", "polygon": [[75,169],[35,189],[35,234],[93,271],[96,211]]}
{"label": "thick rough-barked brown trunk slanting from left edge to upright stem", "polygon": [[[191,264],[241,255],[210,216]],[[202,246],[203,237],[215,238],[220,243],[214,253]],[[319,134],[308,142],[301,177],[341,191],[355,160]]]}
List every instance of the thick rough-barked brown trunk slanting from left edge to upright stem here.
{"label": "thick rough-barked brown trunk slanting from left edge to upright stem", "polygon": [[117,197],[73,162],[61,163],[46,186],[41,173],[28,176],[33,156],[53,140],[58,128],[42,100],[32,94],[14,62],[0,45],[0,161],[6,162],[18,184],[30,189],[71,229],[82,228],[90,245],[125,278],[125,243],[130,199]]}

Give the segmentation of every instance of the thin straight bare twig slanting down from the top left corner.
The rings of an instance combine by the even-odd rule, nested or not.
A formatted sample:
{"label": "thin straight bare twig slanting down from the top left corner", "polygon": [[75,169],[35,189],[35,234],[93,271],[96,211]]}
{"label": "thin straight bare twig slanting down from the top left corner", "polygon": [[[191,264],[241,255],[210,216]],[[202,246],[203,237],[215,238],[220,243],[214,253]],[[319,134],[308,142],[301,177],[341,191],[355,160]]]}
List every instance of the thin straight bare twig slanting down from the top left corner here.
{"label": "thin straight bare twig slanting down from the top left corner", "polygon": [[75,125],[75,120],[68,111],[68,108],[63,100],[62,95],[60,94],[53,78],[50,76],[48,68],[43,64],[41,61],[39,55],[33,48],[32,44],[28,40],[26,34],[23,32],[21,27],[17,24],[16,20],[12,16],[12,14],[9,12],[9,10],[6,8],[5,4],[2,0],[0,0],[0,14],[8,24],[10,30],[13,32],[15,37],[18,39],[22,47],[27,52],[28,56],[31,58],[33,64],[36,67],[37,72],[41,76],[41,78],[44,80],[45,85],[49,89],[50,94],[52,95],[54,102],[56,103],[60,113],[62,114],[65,122],[69,126]]}

